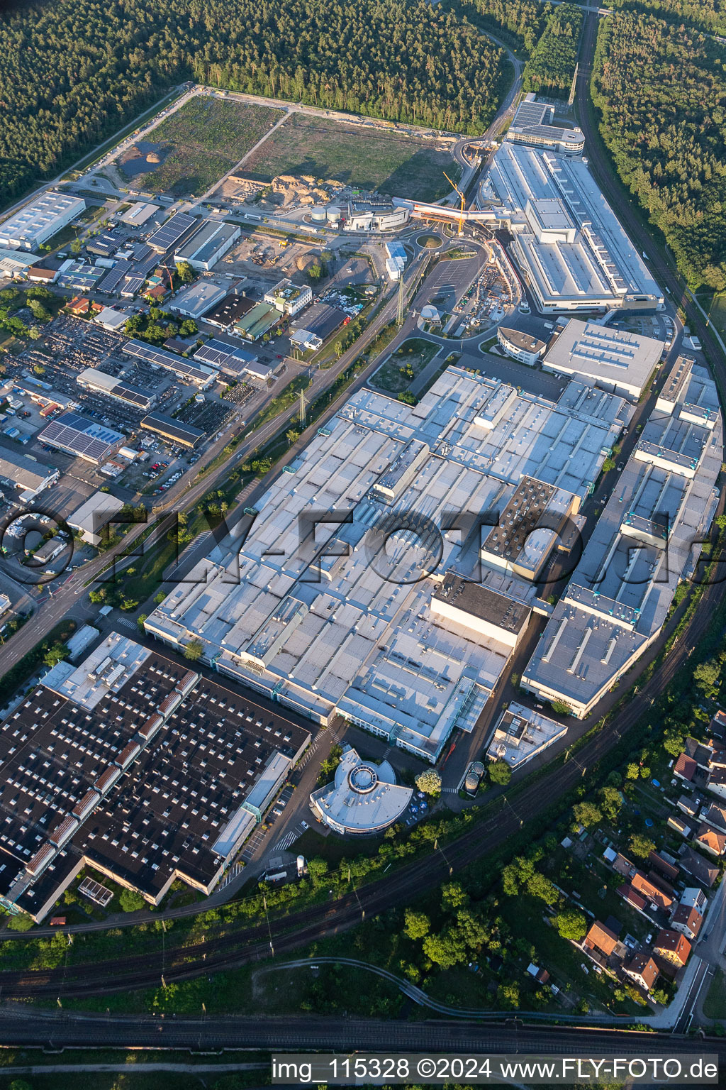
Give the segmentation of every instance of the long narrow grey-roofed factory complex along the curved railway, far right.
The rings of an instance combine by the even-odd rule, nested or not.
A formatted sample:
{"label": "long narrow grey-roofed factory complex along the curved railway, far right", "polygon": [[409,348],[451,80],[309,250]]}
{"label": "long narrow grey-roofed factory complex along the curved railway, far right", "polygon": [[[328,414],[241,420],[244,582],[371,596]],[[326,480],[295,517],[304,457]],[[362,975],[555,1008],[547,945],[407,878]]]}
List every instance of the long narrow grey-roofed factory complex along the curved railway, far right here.
{"label": "long narrow grey-roofed factory complex along the curved railway, far right", "polygon": [[[524,688],[580,718],[657,638],[716,510],[715,384],[703,367],[692,365],[685,380],[679,368],[664,387],[669,411],[656,408],[643,428],[522,674]],[[693,403],[706,420],[693,422]]]}

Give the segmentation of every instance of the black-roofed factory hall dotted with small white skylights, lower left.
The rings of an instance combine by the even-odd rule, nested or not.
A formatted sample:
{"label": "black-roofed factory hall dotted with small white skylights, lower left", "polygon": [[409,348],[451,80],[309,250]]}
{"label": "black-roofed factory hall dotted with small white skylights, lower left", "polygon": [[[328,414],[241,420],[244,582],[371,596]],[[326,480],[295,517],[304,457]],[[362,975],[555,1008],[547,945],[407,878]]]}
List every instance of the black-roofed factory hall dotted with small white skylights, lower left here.
{"label": "black-roofed factory hall dotted with small white skylights, lower left", "polygon": [[0,904],[40,921],[84,867],[151,905],[177,879],[210,893],[309,741],[281,710],[111,633],[0,724]]}

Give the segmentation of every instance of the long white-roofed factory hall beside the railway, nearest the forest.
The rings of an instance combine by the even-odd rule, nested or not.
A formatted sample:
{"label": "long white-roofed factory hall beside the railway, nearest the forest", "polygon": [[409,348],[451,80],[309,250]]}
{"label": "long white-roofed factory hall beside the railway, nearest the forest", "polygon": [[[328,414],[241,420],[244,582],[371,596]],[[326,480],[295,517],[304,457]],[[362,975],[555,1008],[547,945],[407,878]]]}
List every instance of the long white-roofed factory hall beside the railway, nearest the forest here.
{"label": "long white-roofed factory hall beside the railway, nearest the forest", "polygon": [[505,141],[477,199],[508,225],[513,257],[542,313],[663,307],[582,159]]}

